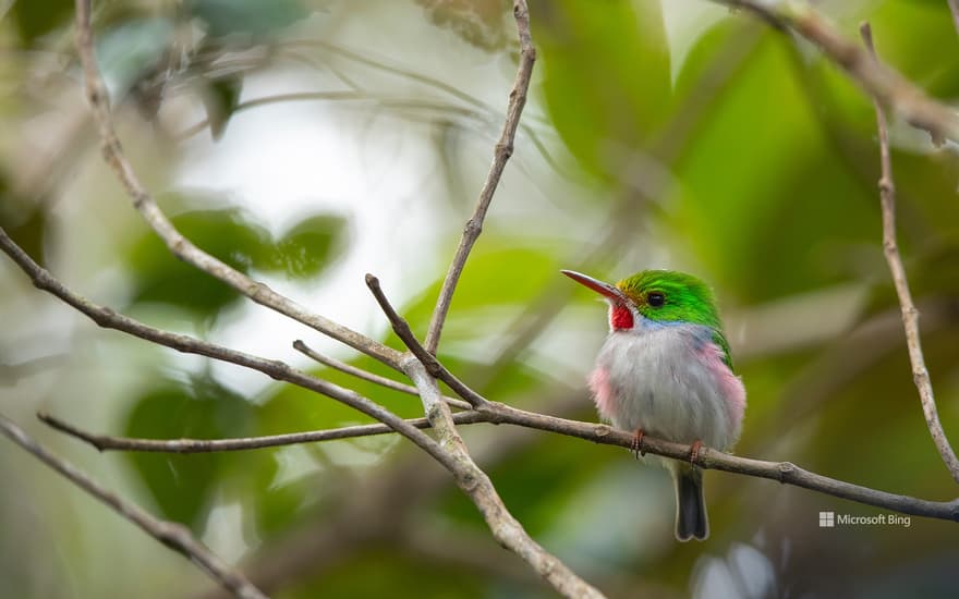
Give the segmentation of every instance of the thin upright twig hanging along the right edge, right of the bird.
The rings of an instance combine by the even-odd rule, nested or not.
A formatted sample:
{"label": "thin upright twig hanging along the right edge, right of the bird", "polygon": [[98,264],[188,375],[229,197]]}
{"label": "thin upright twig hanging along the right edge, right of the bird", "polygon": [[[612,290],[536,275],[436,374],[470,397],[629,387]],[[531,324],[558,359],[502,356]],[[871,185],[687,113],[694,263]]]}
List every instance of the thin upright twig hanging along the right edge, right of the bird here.
{"label": "thin upright twig hanging along the right edge, right of the bird", "polygon": [[[869,23],[860,27],[863,42],[871,56],[875,57],[872,30]],[[959,459],[946,439],[946,431],[939,421],[936,409],[936,399],[933,394],[933,384],[930,380],[928,369],[922,356],[922,342],[919,334],[919,310],[912,302],[912,293],[909,291],[909,281],[906,278],[906,268],[902,266],[902,257],[899,255],[899,244],[896,242],[896,186],[893,183],[893,161],[889,157],[889,134],[886,127],[886,115],[877,99],[873,99],[876,110],[876,126],[879,133],[879,161],[882,164],[882,178],[879,179],[879,200],[883,206],[883,252],[889,272],[893,274],[893,283],[896,285],[896,295],[899,296],[899,306],[902,309],[902,327],[906,329],[906,345],[909,347],[909,362],[912,364],[912,380],[919,390],[922,402],[922,412],[925,415],[925,424],[939,455],[943,456],[946,467],[956,482],[959,482]]]}

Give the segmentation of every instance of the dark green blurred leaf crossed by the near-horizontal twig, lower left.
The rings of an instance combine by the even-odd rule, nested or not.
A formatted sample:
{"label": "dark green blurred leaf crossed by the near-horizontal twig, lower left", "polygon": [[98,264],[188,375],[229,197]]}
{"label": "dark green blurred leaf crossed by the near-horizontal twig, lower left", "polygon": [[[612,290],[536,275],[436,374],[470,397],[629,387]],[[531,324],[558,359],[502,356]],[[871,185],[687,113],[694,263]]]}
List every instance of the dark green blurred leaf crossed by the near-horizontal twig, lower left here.
{"label": "dark green blurred leaf crossed by the near-horizontal twig, lower left", "polygon": [[[149,439],[220,439],[248,435],[254,407],[209,378],[167,382],[143,396],[126,418],[123,435]],[[227,454],[129,453],[165,517],[199,528]]]}

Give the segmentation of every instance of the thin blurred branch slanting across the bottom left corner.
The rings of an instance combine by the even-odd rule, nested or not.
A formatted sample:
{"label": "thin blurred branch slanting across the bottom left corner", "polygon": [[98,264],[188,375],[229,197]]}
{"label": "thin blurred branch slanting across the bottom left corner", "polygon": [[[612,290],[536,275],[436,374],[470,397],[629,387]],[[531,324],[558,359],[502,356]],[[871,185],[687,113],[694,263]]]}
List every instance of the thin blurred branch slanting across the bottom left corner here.
{"label": "thin blurred branch slanting across the bottom left corner", "polygon": [[2,415],[0,415],[0,432],[33,454],[34,457],[63,475],[64,478],[138,526],[144,533],[201,566],[214,580],[222,585],[223,588],[234,596],[243,599],[266,599],[266,595],[253,586],[242,572],[230,567],[215,555],[202,542],[196,540],[190,533],[190,529],[182,524],[158,519],[136,505],[120,499],[75,466],[50,453],[12,420]]}

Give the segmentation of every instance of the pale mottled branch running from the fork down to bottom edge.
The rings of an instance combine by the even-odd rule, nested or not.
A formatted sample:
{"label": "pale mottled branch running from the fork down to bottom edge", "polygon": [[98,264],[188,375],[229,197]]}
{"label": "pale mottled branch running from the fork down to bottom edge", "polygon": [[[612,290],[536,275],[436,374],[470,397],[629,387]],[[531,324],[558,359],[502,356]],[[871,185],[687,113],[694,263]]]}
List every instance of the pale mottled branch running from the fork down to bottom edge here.
{"label": "pale mottled branch running from the fork down to bottom edge", "polygon": [[[369,290],[376,295],[376,301],[383,308],[384,314],[386,314],[393,326],[393,330],[409,331],[406,322],[399,317],[379,288],[379,281],[375,277],[367,274],[366,282],[369,285]],[[412,332],[409,332],[409,337],[413,338]],[[410,347],[410,350],[412,349]],[[463,442],[463,438],[460,437],[457,430],[449,405],[442,401],[442,396],[439,393],[439,384],[436,382],[436,378],[427,371],[426,364],[416,356],[408,354],[408,357],[403,360],[403,371],[406,372],[416,386],[416,389],[420,390],[420,398],[423,401],[426,418],[433,425],[439,443],[450,452],[459,465],[457,469],[450,470],[457,486],[466,493],[480,513],[483,514],[483,518],[486,521],[486,525],[489,527],[489,531],[493,533],[494,538],[505,548],[523,559],[553,588],[565,597],[596,599],[603,597],[603,594],[595,587],[580,578],[569,566],[533,540],[523,528],[523,525],[510,513],[496,491],[496,487],[493,486],[493,481],[489,480],[489,476],[476,465],[473,456],[470,455],[466,443]],[[483,404],[478,405],[483,406],[488,403],[484,401]]]}

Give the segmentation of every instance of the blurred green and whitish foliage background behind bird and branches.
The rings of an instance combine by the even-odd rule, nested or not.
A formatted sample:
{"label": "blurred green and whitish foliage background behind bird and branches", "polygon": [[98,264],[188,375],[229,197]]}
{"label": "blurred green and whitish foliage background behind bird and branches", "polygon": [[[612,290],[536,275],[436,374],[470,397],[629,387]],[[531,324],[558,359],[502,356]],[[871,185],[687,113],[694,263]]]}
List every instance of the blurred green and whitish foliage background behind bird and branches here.
{"label": "blurred green and whitish foliage background behind bird and branches", "polygon": [[[0,224],[32,256],[98,301],[111,298],[114,307],[135,309],[148,321],[172,308],[175,327],[216,340],[253,340],[254,347],[244,351],[290,359],[275,351],[290,352],[286,330],[255,329],[251,322],[260,321],[236,292],[174,258],[142,222],[124,220],[133,218],[125,205],[120,204],[123,211],[99,204],[110,194],[109,201],[123,200],[112,179],[87,173],[94,161],[85,152],[93,154],[96,143],[76,100],[71,5],[19,0],[0,22],[11,49],[0,57],[0,72],[11,82],[0,97],[0,131],[7,132],[0,134]],[[394,290],[405,294],[401,311],[423,334],[485,176],[512,82],[517,42],[509,5],[507,0],[117,1],[95,3],[94,25],[120,136],[181,233],[231,267],[298,301],[305,297],[304,305],[325,315],[336,304],[316,297],[347,294],[336,288],[340,267],[349,266],[351,276],[367,268],[372,258],[360,248],[383,234],[377,252],[399,257],[383,264],[402,264],[403,271],[378,274],[405,285]],[[817,7],[850,38],[867,20],[885,61],[943,101],[959,96],[959,36],[946,2]],[[603,307],[571,285],[555,286],[556,271],[582,268],[607,279],[647,267],[695,271],[716,286],[749,389],[738,452],[789,460],[893,492],[955,497],[915,396],[883,259],[869,98],[804,41],[708,3],[532,0],[531,22],[538,60],[524,129],[454,295],[440,347],[445,364],[497,401],[595,418],[580,381],[602,341]],[[277,83],[289,80],[294,84]],[[445,172],[423,167],[406,173],[418,181],[414,192],[394,190],[379,183],[379,171],[392,162],[364,158],[360,170],[369,187],[362,199],[338,197],[336,208],[309,204],[281,219],[274,217],[282,208],[271,201],[295,195],[282,180],[274,182],[276,197],[271,192],[254,203],[240,199],[239,184],[182,188],[174,173],[202,162],[201,156],[243,154],[266,164],[277,152],[296,151],[248,133],[231,137],[243,133],[247,114],[257,114],[243,112],[241,123],[238,107],[263,101],[274,90],[326,94],[324,109],[333,108],[308,119],[373,146],[364,149],[392,151],[398,170],[426,164],[411,158],[418,152],[411,148],[426,146]],[[339,110],[335,96],[364,101]],[[278,114],[287,107],[292,113],[292,103],[278,107]],[[211,142],[175,133],[204,113]],[[306,120],[293,126],[315,134]],[[282,123],[279,115],[277,122]],[[377,129],[384,122],[404,140],[418,135],[418,145],[393,146],[396,139]],[[283,126],[291,125],[276,129]],[[959,159],[955,145],[936,150],[897,119],[891,131],[900,245],[923,313],[939,414],[955,441]],[[239,149],[238,138],[245,144]],[[352,160],[351,151],[337,147],[336,159]],[[319,173],[313,193],[325,201],[324,178],[340,164],[329,156],[307,158],[295,163]],[[241,180],[245,173],[235,174]],[[394,194],[400,200],[389,204]],[[409,215],[421,215],[421,203],[442,208],[411,223]],[[354,222],[371,205],[385,228]],[[450,206],[456,212],[445,213]],[[410,228],[415,234],[402,237]],[[420,246],[435,255],[422,258],[415,253]],[[823,294],[849,288],[861,297],[852,307],[822,301]],[[4,326],[16,331],[0,347],[4,356],[17,355],[19,340],[36,337],[24,333],[21,322],[50,330],[43,322],[46,313],[34,311],[34,293],[4,285],[0,294],[3,302],[15,296],[10,306],[0,303]],[[367,314],[381,325],[372,302],[348,307],[344,321],[351,326],[360,328],[357,315]],[[93,343],[93,327],[76,329],[85,334],[71,329],[37,343],[85,362],[57,370],[57,384],[47,387],[26,378],[0,380],[4,411],[8,398],[11,405],[33,406],[50,388],[70,386],[73,399],[80,392],[74,389],[88,389],[84,375],[96,381],[90,401],[100,401],[100,387],[111,396],[117,386],[111,377],[129,376],[134,382],[123,389],[122,402],[102,411],[73,403],[58,407],[74,409],[78,426],[104,413],[102,427],[110,432],[158,439],[369,421],[303,389],[250,386],[205,358],[181,359],[132,341],[122,345],[109,332],[97,333],[102,337]],[[517,340],[522,334],[527,339]],[[102,350],[108,339],[121,350]],[[401,346],[392,333],[383,341]],[[510,343],[518,344],[515,353],[503,357]],[[134,346],[147,357],[129,350]],[[348,359],[398,376],[368,357]],[[422,415],[414,398],[329,368],[311,371],[404,417]],[[508,427],[471,427],[464,433],[527,530],[611,597],[719,597],[730,588],[753,597],[955,594],[959,534],[947,523],[912,518],[909,528],[821,530],[820,511],[878,512],[711,473],[713,537],[679,546],[670,531],[668,481],[663,473],[633,467],[624,452]],[[139,491],[133,493],[137,501],[189,525],[230,559],[244,557],[253,569],[305,564],[281,585],[280,597],[549,596],[499,550],[475,508],[439,469],[424,465],[422,455],[392,436],[222,454],[131,453],[121,463]],[[50,504],[59,511],[51,539],[32,541],[43,551],[23,554],[56,549],[71,566],[24,564],[23,572],[31,566],[40,574],[17,577],[16,588],[0,579],[0,596],[122,595],[117,585],[156,597],[195,590],[190,579],[180,579],[193,572],[190,564],[144,566],[163,551],[146,539],[137,551],[158,553],[136,553],[124,562],[135,567],[116,567],[116,539],[105,533],[110,551],[98,551],[97,539],[76,524],[90,521],[90,529],[97,528],[92,508],[60,506],[39,482],[24,487],[40,498],[38,512]],[[377,513],[364,511],[371,503]],[[229,519],[234,508],[239,522]],[[298,535],[309,543],[298,545]],[[324,546],[327,541],[332,545]],[[27,560],[16,558],[14,541],[4,542],[0,557]],[[295,551],[271,553],[291,551],[284,543]],[[159,578],[143,583],[138,575],[146,570],[156,570]],[[88,574],[75,576],[80,571]],[[130,574],[123,578],[116,571]],[[53,579],[53,589],[24,583],[39,578]],[[171,580],[183,586],[173,588]],[[742,591],[737,586],[742,580],[755,592]]]}

